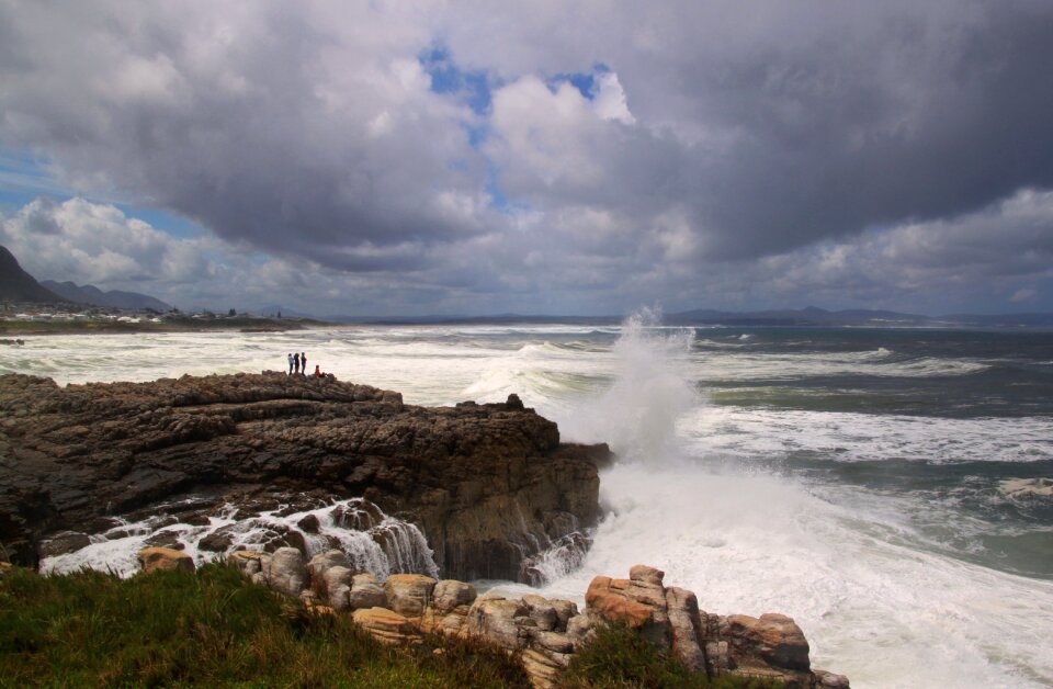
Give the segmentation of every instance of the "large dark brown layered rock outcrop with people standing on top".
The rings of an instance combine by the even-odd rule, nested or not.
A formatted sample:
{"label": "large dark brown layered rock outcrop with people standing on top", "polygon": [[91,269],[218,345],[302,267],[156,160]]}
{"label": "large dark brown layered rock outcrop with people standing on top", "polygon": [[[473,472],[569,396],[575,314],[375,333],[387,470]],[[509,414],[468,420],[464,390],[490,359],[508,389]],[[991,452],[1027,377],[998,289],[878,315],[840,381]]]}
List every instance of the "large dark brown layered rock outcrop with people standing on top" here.
{"label": "large dark brown layered rock outcrop with people standing on top", "polygon": [[[231,504],[273,509],[275,492],[317,505],[361,496],[419,527],[444,576],[525,579],[531,556],[595,522],[597,466],[609,456],[605,445],[561,443],[556,425],[514,395],[424,408],[398,393],[284,373],[65,388],[5,375],[0,542],[34,566],[50,535],[99,533],[114,516],[156,513],[163,501],[193,505],[180,519],[207,523]],[[304,521],[261,536],[264,550],[292,545],[309,558],[305,541],[318,524]],[[373,526],[382,546],[398,536]],[[157,538],[151,544],[181,546]],[[228,552],[231,534],[220,529],[200,547]]]}

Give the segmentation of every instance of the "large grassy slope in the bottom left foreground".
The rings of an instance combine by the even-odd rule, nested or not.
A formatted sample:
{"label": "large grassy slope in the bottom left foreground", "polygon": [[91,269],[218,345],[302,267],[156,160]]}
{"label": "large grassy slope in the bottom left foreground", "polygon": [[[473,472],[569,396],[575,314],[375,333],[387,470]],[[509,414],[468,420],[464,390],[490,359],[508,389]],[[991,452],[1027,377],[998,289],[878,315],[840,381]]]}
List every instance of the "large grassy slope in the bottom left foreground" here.
{"label": "large grassy slope in the bottom left foreground", "polygon": [[[435,654],[435,648],[442,648]],[[426,637],[392,647],[234,568],[0,579],[0,686],[528,687],[514,658]]]}

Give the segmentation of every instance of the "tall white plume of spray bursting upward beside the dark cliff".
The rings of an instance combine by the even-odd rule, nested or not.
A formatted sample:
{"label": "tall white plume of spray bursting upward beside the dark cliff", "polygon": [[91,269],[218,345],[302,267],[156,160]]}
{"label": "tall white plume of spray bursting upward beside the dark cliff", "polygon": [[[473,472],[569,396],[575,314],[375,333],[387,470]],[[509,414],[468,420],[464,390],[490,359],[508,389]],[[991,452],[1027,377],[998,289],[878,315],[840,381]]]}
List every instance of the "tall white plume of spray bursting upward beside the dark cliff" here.
{"label": "tall white plume of spray bursting upward beside the dark cliff", "polygon": [[694,331],[660,329],[661,313],[642,308],[614,344],[614,384],[591,407],[589,436],[622,461],[663,464],[681,456],[677,418],[698,404],[684,375]]}

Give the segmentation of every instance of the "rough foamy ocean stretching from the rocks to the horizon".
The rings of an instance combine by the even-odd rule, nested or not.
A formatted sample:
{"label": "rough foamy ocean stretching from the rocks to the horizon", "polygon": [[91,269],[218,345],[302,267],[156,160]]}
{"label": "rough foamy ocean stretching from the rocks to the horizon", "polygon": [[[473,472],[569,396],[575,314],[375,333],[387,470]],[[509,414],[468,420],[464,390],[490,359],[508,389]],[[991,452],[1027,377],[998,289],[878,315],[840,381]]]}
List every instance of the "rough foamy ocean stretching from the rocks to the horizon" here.
{"label": "rough foamy ocean stretching from the rocks to the horizon", "polygon": [[[1053,334],[875,328],[369,326],[25,337],[0,373],[60,384],[285,370],[307,352],[409,404],[518,394],[609,442],[580,567],[666,572],[710,612],[783,612],[853,687],[1053,685]],[[131,547],[131,546],[129,546]],[[522,585],[482,586],[511,592]]]}

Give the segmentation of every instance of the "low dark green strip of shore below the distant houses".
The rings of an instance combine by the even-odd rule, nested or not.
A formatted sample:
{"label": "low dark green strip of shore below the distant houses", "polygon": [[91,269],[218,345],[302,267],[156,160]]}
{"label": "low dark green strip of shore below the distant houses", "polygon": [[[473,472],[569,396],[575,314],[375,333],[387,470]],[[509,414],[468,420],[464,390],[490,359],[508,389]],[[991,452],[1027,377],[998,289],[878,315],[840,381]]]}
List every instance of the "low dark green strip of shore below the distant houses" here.
{"label": "low dark green strip of shore below the distant houses", "polygon": [[161,323],[117,320],[14,320],[0,319],[0,336],[128,335],[135,332],[285,332],[333,324],[310,319],[279,318],[180,318]]}

